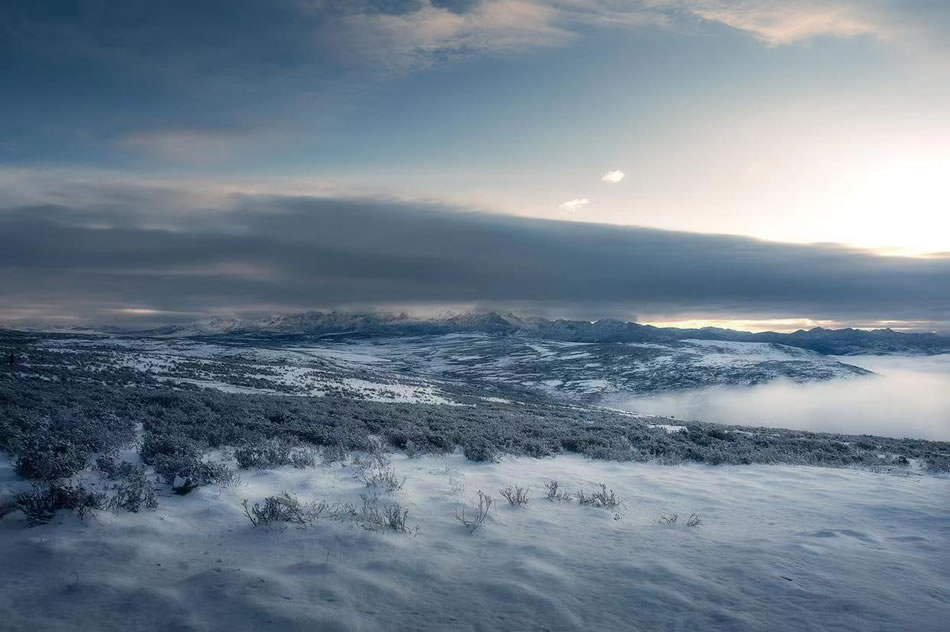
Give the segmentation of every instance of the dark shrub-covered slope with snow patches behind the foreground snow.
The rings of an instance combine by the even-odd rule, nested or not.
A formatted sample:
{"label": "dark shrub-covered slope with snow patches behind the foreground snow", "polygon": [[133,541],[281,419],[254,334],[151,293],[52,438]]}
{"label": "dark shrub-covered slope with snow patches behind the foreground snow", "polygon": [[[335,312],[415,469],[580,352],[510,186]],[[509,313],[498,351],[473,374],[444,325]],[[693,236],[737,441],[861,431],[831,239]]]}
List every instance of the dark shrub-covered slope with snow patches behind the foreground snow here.
{"label": "dark shrub-covered slope with snow patches behind the foreground snow", "polygon": [[[184,360],[175,351],[181,345]],[[7,334],[0,351],[19,358],[0,371],[0,448],[36,453],[40,461],[58,454],[57,442],[78,440],[75,462],[88,463],[103,449],[89,437],[111,426],[127,433],[136,423],[146,442],[151,438],[152,453],[185,455],[194,467],[208,449],[265,438],[358,450],[369,435],[411,453],[462,448],[473,460],[577,452],[666,463],[920,464],[934,471],[950,461],[950,447],[940,442],[680,424],[565,404],[509,382],[369,374],[384,371],[366,368],[382,364],[378,356],[340,347],[321,348],[317,357],[312,348],[293,351],[301,365],[288,363],[296,356],[286,349],[219,349],[194,341]],[[341,370],[364,372],[341,376]]]}

